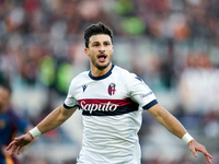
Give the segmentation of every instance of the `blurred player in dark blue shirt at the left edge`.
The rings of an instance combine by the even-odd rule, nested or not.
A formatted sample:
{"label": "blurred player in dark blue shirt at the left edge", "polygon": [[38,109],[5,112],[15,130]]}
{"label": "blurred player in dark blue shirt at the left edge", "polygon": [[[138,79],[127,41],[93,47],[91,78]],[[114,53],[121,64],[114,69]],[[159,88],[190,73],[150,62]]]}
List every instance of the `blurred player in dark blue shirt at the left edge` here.
{"label": "blurred player in dark blue shirt at the left edge", "polygon": [[9,155],[7,145],[18,131],[28,132],[32,129],[30,124],[10,106],[10,86],[0,84],[0,164],[19,164],[15,156]]}

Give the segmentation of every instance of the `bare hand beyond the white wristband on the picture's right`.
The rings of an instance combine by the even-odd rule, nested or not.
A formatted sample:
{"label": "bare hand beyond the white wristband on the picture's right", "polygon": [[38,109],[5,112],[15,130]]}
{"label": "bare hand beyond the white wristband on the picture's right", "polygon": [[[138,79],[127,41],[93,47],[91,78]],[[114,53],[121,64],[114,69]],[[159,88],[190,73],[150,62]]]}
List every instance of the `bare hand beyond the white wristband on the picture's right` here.
{"label": "bare hand beyond the white wristband on the picture's right", "polygon": [[198,156],[197,152],[203,152],[208,163],[211,163],[210,159],[212,159],[212,156],[207,152],[206,148],[203,144],[196,142],[195,140],[192,140],[188,143],[188,145],[189,145],[189,150],[193,152],[195,157]]}

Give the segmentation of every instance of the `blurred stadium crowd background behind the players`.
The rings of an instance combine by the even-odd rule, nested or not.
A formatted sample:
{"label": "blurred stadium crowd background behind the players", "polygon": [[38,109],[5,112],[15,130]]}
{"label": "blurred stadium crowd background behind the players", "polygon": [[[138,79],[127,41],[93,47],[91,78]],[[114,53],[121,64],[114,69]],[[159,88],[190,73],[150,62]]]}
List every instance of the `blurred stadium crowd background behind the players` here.
{"label": "blurred stadium crowd background behind the players", "polygon": [[[219,164],[218,0],[0,0],[0,81],[34,126],[62,104],[70,80],[89,69],[83,31],[114,30],[114,63],[141,77],[159,102]],[[26,148],[22,164],[70,164],[80,151],[81,114]],[[205,164],[147,112],[142,164]]]}

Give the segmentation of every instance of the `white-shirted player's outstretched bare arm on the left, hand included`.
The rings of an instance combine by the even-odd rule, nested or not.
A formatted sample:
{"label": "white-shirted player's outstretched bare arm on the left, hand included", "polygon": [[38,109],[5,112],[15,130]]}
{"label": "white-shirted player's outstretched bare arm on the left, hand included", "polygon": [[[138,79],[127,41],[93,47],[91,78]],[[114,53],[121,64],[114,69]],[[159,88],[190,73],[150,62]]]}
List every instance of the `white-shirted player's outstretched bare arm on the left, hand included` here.
{"label": "white-shirted player's outstretched bare arm on the left, hand included", "polygon": [[7,148],[10,155],[14,155],[15,152],[20,154],[21,149],[28,143],[31,143],[35,137],[41,133],[45,133],[50,131],[61,124],[64,124],[77,109],[78,107],[73,107],[71,109],[65,108],[62,105],[58,108],[54,109],[47,117],[45,117],[34,129],[15,138]]}

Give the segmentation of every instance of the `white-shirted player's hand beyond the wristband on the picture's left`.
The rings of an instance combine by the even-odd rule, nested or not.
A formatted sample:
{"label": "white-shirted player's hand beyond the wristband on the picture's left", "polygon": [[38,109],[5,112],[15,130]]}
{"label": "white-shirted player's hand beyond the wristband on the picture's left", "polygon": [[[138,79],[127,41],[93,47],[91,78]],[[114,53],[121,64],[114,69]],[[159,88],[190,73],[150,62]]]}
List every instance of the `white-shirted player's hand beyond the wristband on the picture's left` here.
{"label": "white-shirted player's hand beyond the wristband on the picture's left", "polygon": [[13,156],[16,152],[19,155],[23,147],[27,145],[34,140],[31,133],[22,134],[21,137],[14,138],[14,140],[7,147],[9,154]]}

